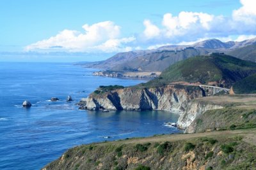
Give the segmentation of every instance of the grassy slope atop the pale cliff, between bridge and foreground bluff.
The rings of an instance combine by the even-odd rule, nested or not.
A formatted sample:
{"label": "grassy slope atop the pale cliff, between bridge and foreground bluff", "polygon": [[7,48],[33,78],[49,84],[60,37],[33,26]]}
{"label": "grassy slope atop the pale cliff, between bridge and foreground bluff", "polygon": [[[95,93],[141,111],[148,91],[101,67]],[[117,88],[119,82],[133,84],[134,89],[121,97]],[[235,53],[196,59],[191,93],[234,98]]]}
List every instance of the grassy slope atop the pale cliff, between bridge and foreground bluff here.
{"label": "grassy slope atop the pale cliff, between bridge and foreground bluff", "polygon": [[255,96],[213,96],[198,98],[194,102],[216,104],[223,106],[223,108],[208,110],[196,117],[189,126],[189,132],[250,129],[256,127]]}

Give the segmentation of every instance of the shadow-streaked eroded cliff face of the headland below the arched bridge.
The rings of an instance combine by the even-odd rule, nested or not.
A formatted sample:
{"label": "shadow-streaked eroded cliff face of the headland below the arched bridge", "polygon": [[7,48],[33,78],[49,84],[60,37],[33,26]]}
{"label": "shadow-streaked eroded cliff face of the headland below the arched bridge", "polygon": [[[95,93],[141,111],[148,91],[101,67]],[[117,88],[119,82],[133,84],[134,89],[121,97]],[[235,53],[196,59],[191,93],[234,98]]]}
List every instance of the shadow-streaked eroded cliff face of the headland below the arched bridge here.
{"label": "shadow-streaked eroded cliff face of the headland below the arched bridge", "polygon": [[166,85],[156,88],[111,90],[103,94],[91,94],[83,99],[82,109],[87,110],[166,110],[183,113],[188,104],[204,93],[199,87]]}

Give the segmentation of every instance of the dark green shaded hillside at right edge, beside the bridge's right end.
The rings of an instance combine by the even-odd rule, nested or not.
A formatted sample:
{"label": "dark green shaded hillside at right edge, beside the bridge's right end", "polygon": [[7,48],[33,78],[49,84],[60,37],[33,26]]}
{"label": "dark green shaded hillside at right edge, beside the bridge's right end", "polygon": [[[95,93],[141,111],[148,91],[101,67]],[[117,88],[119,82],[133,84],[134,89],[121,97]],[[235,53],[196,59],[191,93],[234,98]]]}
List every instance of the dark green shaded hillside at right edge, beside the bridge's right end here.
{"label": "dark green shaded hillside at right edge, beside the bridge's right end", "polygon": [[256,93],[256,74],[252,74],[243,80],[237,81],[233,85],[236,94],[255,94]]}

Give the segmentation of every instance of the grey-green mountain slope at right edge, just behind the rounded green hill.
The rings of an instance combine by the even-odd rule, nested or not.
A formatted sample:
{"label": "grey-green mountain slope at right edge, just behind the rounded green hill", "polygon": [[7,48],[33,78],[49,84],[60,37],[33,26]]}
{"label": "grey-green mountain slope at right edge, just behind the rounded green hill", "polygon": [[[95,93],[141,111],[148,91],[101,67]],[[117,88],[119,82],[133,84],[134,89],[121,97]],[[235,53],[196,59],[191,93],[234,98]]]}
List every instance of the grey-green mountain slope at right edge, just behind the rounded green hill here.
{"label": "grey-green mountain slope at right edge, just behind the rounded green hill", "polygon": [[226,53],[239,59],[256,62],[256,44],[236,48],[235,50]]}

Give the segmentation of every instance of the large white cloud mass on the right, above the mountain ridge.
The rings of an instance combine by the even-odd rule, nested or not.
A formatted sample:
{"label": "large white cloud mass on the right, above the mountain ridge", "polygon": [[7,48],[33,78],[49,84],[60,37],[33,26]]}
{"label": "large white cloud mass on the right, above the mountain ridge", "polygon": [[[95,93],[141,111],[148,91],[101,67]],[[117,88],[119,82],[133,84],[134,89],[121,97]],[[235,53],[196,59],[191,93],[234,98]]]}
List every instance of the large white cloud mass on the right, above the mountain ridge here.
{"label": "large white cloud mass on the right, above the mountain ridge", "polygon": [[[217,38],[223,41],[232,41],[239,35],[247,35],[251,38],[256,34],[256,0],[241,0],[241,8],[232,12],[232,17],[222,15],[211,15],[209,13],[198,13],[181,11],[177,16],[172,13],[163,15],[161,25],[154,25],[152,32],[157,34],[145,34],[148,26],[145,27],[145,39],[150,41],[149,48],[152,48],[152,42],[155,44],[187,44],[195,42],[198,39]],[[151,23],[150,20],[146,20]],[[145,22],[144,21],[144,25]],[[149,25],[148,24],[148,25]],[[243,37],[244,37],[243,36]],[[242,37],[240,38],[242,39]]]}

